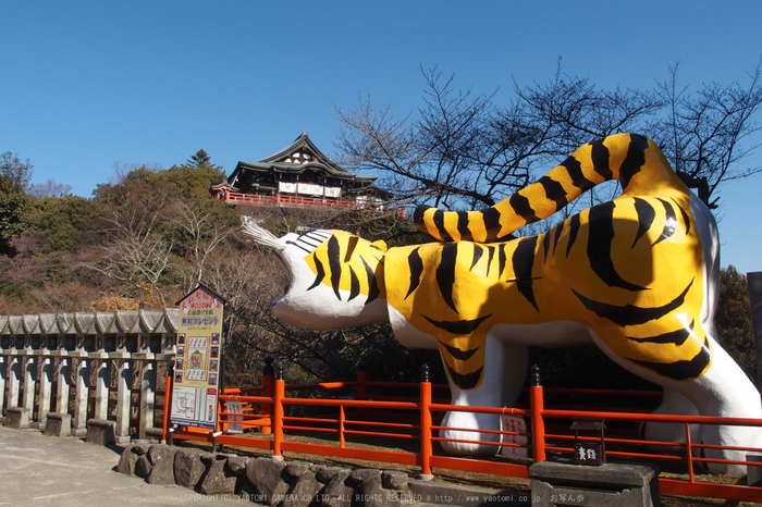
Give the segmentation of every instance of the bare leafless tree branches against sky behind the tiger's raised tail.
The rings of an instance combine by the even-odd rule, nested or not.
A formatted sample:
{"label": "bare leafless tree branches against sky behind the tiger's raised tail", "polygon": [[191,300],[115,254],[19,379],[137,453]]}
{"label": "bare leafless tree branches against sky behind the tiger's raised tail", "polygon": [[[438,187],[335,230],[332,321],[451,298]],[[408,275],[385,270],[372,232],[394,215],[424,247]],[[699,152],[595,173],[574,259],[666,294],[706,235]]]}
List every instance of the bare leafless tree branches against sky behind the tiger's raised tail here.
{"label": "bare leafless tree branches against sky behind the tiger's raised tail", "polygon": [[[643,133],[661,144],[675,169],[708,203],[722,181],[760,168],[739,162],[757,146],[743,141],[759,127],[760,67],[747,86],[677,87],[677,65],[655,89],[604,90],[565,74],[561,60],[546,83],[513,84],[496,92],[456,91],[453,78],[422,71],[422,107],[397,118],[393,106],[374,108],[358,97],[342,124],[336,148],[355,170],[374,171],[379,184],[415,203],[480,209],[502,200],[560,163],[574,149],[618,132]],[[703,186],[702,186],[703,185]],[[597,189],[589,203],[611,199],[616,186]],[[570,212],[574,208],[569,208]]]}

